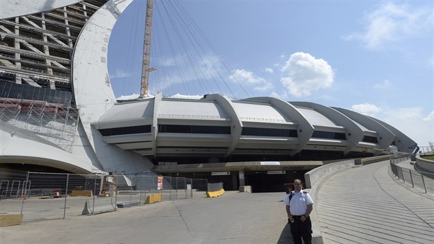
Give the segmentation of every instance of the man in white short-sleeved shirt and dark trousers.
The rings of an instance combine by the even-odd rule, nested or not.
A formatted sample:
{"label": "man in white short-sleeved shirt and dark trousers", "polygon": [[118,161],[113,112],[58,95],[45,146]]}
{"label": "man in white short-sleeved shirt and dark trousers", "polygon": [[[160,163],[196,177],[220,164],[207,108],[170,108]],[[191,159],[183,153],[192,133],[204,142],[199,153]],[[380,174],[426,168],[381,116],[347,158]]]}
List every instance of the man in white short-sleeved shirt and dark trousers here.
{"label": "man in white short-sleeved shirt and dark trousers", "polygon": [[300,179],[294,180],[296,190],[290,192],[283,200],[286,205],[288,221],[294,244],[312,243],[312,223],[309,214],[313,209],[313,201],[307,192],[302,191]]}

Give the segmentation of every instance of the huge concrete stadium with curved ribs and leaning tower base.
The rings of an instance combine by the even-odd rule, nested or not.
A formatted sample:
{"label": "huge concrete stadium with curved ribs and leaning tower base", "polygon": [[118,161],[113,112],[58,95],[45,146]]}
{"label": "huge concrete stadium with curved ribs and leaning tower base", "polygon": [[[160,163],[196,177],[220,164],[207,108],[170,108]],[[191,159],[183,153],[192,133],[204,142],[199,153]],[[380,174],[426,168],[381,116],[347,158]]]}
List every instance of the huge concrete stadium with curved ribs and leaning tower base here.
{"label": "huge concrete stadium with curved ribs and leaning tower base", "polygon": [[117,101],[107,48],[131,2],[1,1],[0,167],[227,172],[243,185],[245,172],[305,172],[324,160],[417,146],[378,119],[316,103],[161,93]]}

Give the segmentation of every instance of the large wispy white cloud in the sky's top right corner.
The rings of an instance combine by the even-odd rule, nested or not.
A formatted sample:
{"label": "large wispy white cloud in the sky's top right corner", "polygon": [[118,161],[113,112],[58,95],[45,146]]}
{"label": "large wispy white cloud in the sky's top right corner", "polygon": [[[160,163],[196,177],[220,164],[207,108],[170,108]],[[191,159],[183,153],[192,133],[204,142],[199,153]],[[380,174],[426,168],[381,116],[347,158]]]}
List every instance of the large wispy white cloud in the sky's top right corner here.
{"label": "large wispy white cloud in the sky's top right corner", "polygon": [[432,18],[429,8],[417,9],[406,4],[384,2],[377,10],[366,14],[364,32],[354,32],[343,38],[360,41],[368,49],[385,48],[429,28]]}

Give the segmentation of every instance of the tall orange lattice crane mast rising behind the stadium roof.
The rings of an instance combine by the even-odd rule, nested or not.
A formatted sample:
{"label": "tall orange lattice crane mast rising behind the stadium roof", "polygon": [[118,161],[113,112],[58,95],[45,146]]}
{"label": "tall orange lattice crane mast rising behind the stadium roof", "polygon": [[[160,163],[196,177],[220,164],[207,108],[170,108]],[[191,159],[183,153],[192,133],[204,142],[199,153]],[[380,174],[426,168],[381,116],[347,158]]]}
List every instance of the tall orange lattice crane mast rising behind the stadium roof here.
{"label": "tall orange lattice crane mast rising behind the stadium roof", "polygon": [[146,20],[145,20],[145,41],[143,42],[143,63],[142,63],[142,81],[140,98],[146,97],[149,87],[149,72],[154,68],[149,67],[149,57],[151,54],[151,34],[152,34],[152,6],[154,1],[147,0],[146,3]]}

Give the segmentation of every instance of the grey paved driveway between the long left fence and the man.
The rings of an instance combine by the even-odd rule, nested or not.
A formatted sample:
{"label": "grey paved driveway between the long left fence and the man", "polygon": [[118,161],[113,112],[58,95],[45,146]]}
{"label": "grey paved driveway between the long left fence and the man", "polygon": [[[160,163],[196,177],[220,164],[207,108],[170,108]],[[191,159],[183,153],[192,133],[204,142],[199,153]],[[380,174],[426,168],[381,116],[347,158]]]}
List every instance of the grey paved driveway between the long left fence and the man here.
{"label": "grey paved driveway between the long left fence and the man", "polygon": [[0,243],[292,243],[285,192],[225,192],[0,227]]}

